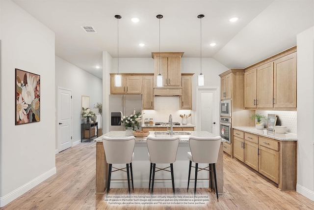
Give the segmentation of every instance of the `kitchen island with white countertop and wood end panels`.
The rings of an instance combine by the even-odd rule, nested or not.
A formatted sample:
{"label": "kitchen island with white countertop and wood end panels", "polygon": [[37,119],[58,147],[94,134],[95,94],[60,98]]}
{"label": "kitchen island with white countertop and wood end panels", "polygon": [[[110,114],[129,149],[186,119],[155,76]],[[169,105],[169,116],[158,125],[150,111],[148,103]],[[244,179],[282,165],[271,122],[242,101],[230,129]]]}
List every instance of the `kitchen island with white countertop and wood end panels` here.
{"label": "kitchen island with white countertop and wood end panels", "polygon": [[[208,131],[189,131],[190,135],[176,135],[180,138],[179,148],[177,152],[176,162],[174,167],[174,180],[175,187],[185,188],[187,187],[188,179],[188,166],[189,159],[187,158],[187,152],[190,151],[188,138],[192,136],[198,137],[215,137],[216,135],[209,133]],[[103,136],[109,136],[113,138],[125,137],[125,131],[110,131]],[[96,193],[104,193],[107,184],[107,171],[108,164],[105,160],[105,150],[103,146],[103,136],[97,138],[96,143]],[[149,136],[152,137],[169,137],[169,135],[155,135],[154,131],[150,131]],[[147,137],[135,137],[134,159],[132,161],[133,167],[133,182],[134,187],[148,188],[149,184],[149,170],[150,161],[148,158],[148,150],[146,144]],[[158,164],[159,168],[168,167],[169,164]],[[194,164],[193,164],[194,165]],[[208,164],[199,164],[199,168],[205,168]],[[117,168],[124,168],[125,164],[116,164]],[[194,169],[194,168],[193,168]],[[191,171],[191,181],[194,178],[194,170]],[[216,163],[217,174],[217,188],[218,193],[223,193],[223,146],[221,142],[218,161]],[[204,179],[204,180],[201,180]],[[127,180],[126,173],[116,172],[112,175],[110,187],[126,188]],[[160,171],[156,173],[155,186],[169,187],[171,188],[171,175],[168,172]],[[212,184],[214,189],[214,184]],[[209,187],[209,173],[201,171],[198,174],[197,187]],[[215,189],[214,189],[215,190]]]}

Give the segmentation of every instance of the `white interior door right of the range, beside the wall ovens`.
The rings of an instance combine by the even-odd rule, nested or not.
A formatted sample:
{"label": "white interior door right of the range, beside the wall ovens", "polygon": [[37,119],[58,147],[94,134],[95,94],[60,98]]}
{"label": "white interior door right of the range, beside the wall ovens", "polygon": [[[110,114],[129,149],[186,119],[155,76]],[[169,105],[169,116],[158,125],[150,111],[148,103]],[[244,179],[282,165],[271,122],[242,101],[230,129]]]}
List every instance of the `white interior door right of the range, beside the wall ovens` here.
{"label": "white interior door right of the range, beside the wall ovens", "polygon": [[219,88],[197,87],[196,129],[219,135]]}

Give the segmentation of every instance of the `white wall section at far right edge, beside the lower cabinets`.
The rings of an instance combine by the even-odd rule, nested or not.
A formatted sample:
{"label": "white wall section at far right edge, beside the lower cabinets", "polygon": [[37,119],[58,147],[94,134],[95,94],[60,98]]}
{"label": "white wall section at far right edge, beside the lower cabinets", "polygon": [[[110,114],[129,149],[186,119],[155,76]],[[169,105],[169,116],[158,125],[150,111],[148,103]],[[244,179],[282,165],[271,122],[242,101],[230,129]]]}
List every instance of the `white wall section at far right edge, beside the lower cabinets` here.
{"label": "white wall section at far right edge, beside the lower cabinets", "polygon": [[314,27],[297,35],[297,192],[314,201]]}

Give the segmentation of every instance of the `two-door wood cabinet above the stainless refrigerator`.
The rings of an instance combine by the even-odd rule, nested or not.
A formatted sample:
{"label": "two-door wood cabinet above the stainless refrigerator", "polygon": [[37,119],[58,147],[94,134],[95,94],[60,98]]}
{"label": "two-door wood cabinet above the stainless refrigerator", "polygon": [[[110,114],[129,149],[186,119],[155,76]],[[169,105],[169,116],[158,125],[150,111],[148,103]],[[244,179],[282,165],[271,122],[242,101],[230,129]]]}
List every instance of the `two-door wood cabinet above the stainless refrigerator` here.
{"label": "two-door wood cabinet above the stainless refrigerator", "polygon": [[142,94],[141,76],[123,76],[122,86],[114,86],[114,75],[110,75],[110,94]]}

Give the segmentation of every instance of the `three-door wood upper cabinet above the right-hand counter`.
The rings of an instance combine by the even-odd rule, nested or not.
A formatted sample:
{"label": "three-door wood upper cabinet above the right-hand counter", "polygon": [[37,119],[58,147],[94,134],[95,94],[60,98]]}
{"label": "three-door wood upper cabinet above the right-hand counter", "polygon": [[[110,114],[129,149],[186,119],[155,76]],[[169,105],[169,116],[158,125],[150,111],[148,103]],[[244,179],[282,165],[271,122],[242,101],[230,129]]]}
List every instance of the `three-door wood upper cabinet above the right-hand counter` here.
{"label": "three-door wood upper cabinet above the right-hand counter", "polygon": [[296,48],[289,49],[245,70],[245,108],[295,110],[297,100],[295,51]]}

